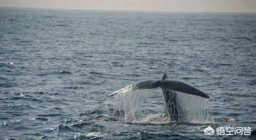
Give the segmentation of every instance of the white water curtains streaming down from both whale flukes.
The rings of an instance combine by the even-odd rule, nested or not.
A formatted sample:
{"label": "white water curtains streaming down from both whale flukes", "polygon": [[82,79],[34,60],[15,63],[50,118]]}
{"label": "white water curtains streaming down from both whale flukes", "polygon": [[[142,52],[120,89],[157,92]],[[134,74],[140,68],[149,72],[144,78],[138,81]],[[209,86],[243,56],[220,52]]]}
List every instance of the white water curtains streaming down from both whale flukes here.
{"label": "white water curtains streaming down from both whale flukes", "polygon": [[[164,114],[163,96],[162,99],[159,99],[162,100],[162,105],[158,105],[158,108],[161,108],[162,112],[152,113],[148,111],[150,107],[148,108],[148,105],[144,105],[144,100],[150,100],[150,95],[154,94],[154,92],[155,90],[152,89],[129,91],[115,95],[114,98],[108,98],[107,101],[108,104],[113,105],[113,111],[118,117],[118,121],[143,124],[169,123],[170,118]],[[210,110],[208,109],[209,105],[207,99],[182,92],[176,93],[181,122],[197,124],[214,123],[214,120],[211,118]],[[152,101],[150,103],[152,103]]]}

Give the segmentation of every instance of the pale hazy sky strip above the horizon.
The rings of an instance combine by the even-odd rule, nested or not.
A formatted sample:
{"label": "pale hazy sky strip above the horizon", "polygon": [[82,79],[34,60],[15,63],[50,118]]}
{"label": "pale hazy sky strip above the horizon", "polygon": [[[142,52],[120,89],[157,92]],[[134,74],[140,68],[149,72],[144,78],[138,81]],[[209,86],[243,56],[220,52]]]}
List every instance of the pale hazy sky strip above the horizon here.
{"label": "pale hazy sky strip above the horizon", "polygon": [[172,12],[256,12],[256,0],[0,0],[0,6]]}

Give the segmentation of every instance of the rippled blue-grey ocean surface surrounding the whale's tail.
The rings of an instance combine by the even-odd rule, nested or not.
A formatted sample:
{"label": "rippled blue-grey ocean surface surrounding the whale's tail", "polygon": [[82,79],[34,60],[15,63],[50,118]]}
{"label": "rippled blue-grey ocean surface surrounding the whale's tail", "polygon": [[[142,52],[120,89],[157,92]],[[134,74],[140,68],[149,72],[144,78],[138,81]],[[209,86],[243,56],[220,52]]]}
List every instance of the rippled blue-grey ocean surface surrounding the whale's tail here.
{"label": "rippled blue-grey ocean surface surrounding the whale's tail", "polygon": [[[255,140],[255,70],[255,13],[1,7],[0,139]],[[164,73],[210,97],[182,98],[184,108],[207,109],[208,121],[167,121],[161,89],[109,103]],[[120,119],[124,104],[138,115]],[[251,134],[206,135],[208,126]]]}

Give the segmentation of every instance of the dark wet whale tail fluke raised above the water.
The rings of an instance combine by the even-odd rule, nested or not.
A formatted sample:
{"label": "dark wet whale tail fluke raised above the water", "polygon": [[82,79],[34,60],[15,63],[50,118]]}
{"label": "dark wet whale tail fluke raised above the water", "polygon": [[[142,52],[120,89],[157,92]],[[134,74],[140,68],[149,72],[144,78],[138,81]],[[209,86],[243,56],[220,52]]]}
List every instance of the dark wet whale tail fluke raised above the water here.
{"label": "dark wet whale tail fluke raised above the water", "polygon": [[190,86],[184,82],[170,80],[168,74],[164,74],[161,79],[146,80],[138,82],[115,91],[108,95],[108,98],[115,97],[117,95],[131,93],[142,89],[155,89],[161,88],[164,94],[164,112],[170,121],[180,121],[180,109],[178,106],[177,94],[178,92],[196,95],[202,98],[209,99],[210,97],[199,89]]}

